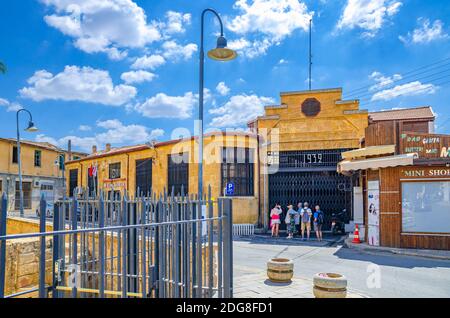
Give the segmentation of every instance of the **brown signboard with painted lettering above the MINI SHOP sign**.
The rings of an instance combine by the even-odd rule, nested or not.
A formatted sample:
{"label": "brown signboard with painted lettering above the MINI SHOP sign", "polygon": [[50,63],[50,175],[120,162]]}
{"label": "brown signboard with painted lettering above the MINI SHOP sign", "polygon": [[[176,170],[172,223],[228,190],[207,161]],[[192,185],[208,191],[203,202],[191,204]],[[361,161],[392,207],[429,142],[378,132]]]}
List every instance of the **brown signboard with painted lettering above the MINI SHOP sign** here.
{"label": "brown signboard with painted lettering above the MINI SHOP sign", "polygon": [[402,134],[400,152],[417,153],[422,159],[450,159],[450,135]]}

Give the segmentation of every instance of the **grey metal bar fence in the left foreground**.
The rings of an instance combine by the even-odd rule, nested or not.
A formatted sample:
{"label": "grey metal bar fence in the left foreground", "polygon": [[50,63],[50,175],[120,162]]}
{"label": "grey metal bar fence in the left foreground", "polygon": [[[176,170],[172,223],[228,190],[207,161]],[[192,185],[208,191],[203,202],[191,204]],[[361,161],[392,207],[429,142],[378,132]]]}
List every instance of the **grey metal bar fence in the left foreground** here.
{"label": "grey metal bar fence in the left foreground", "polygon": [[[56,202],[51,219],[40,213],[39,233],[13,235],[6,235],[3,195],[0,298],[33,292],[41,298],[232,297],[230,199],[213,201],[210,189],[201,200],[173,193],[133,199],[126,194],[89,198],[88,193]],[[41,211],[45,207],[42,197]],[[46,231],[46,221],[53,223],[53,231]],[[39,284],[5,295],[7,242],[25,238],[40,242]]]}

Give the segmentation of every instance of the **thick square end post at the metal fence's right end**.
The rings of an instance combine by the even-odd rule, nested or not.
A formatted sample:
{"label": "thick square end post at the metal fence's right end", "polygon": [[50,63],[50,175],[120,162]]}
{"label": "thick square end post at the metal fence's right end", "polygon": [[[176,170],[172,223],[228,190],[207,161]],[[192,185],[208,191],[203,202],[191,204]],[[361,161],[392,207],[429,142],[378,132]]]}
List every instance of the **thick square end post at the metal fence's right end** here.
{"label": "thick square end post at the metal fence's right end", "polygon": [[223,266],[224,297],[233,297],[233,207],[231,199],[224,199],[223,244],[225,263]]}

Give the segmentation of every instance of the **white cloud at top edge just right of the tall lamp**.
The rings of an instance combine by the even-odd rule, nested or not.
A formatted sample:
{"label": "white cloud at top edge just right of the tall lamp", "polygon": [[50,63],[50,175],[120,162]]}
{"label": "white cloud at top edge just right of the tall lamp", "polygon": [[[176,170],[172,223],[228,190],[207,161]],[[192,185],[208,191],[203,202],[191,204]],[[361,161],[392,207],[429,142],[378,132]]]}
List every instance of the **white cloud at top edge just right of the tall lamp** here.
{"label": "white cloud at top edge just right of the tall lamp", "polygon": [[226,27],[240,37],[229,47],[248,58],[266,54],[296,30],[307,31],[314,14],[298,0],[237,0],[233,8],[239,14],[227,17]]}

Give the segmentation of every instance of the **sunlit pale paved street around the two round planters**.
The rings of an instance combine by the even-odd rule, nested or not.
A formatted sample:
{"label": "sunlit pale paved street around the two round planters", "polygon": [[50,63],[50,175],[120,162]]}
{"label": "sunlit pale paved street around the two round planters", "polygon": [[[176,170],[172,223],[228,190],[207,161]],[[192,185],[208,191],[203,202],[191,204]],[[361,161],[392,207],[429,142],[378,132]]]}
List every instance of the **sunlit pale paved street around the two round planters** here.
{"label": "sunlit pale paved street around the two round planters", "polygon": [[[450,261],[387,253],[367,254],[330,245],[330,242],[288,242],[285,238],[236,241],[235,297],[280,297],[279,294],[312,297],[313,275],[334,272],[348,278],[352,297],[450,298]],[[273,257],[294,260],[292,284],[274,288],[265,281],[266,261]],[[379,266],[381,288],[369,288],[366,283],[370,275],[367,271],[375,268],[373,264]]]}

